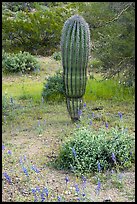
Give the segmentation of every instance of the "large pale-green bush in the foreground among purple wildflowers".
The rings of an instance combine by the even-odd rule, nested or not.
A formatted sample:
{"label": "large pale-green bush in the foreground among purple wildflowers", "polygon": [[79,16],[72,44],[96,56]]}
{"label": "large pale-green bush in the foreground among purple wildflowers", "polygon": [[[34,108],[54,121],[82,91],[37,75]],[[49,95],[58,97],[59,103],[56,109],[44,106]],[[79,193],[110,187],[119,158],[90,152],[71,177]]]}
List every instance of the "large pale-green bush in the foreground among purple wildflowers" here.
{"label": "large pale-green bush in the foreground among purple wildflowers", "polygon": [[[128,168],[134,161],[133,147],[133,139],[126,131],[122,132],[117,128],[107,131],[78,128],[61,146],[54,165],[60,169],[73,170],[75,173],[96,172],[98,162],[102,171],[114,168],[115,164],[121,169]],[[116,157],[116,163],[112,160],[112,153]]]}

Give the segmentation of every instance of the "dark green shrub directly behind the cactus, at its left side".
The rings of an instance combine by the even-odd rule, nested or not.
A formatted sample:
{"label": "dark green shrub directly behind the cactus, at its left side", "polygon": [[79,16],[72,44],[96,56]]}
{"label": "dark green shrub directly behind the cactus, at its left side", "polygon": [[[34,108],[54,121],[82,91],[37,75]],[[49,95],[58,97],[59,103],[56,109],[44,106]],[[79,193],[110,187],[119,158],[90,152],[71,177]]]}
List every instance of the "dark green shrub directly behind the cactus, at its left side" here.
{"label": "dark green shrub directly behind the cactus, at its left side", "polygon": [[45,100],[61,101],[64,98],[63,77],[61,72],[56,72],[44,83],[42,97]]}

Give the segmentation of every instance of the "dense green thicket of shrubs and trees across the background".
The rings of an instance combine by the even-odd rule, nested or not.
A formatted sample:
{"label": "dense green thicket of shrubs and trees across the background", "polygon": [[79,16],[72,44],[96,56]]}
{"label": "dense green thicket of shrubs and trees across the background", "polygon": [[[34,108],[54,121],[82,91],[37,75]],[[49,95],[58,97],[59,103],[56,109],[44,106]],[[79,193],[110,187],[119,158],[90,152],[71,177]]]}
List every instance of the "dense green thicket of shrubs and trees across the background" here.
{"label": "dense green thicket of shrubs and trees across the background", "polygon": [[3,2],[2,42],[6,52],[51,55],[60,50],[64,22],[82,15],[91,31],[91,55],[102,62],[104,77],[135,81],[134,2]]}

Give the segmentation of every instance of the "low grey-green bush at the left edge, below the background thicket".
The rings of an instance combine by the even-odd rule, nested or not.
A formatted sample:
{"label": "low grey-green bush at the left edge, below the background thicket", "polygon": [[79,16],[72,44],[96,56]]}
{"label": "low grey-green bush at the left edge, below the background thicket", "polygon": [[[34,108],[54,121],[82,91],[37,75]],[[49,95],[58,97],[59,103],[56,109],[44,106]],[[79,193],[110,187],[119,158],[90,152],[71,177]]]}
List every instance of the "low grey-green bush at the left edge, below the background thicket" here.
{"label": "low grey-green bush at the left edge, below the background thicket", "polygon": [[28,52],[19,52],[10,54],[3,51],[2,69],[4,72],[22,72],[29,73],[39,69],[39,65],[34,56]]}

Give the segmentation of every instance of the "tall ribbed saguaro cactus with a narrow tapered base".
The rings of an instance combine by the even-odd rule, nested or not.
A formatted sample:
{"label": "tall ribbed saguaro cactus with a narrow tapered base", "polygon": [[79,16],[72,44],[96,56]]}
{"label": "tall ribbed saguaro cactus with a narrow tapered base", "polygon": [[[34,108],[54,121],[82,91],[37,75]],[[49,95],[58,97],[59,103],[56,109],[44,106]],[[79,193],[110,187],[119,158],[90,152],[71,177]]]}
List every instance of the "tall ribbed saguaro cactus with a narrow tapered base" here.
{"label": "tall ribbed saguaro cactus with a narrow tapered base", "polygon": [[67,109],[73,121],[79,120],[82,109],[89,47],[88,24],[81,16],[72,16],[65,22],[62,30],[61,52]]}

